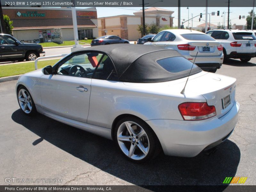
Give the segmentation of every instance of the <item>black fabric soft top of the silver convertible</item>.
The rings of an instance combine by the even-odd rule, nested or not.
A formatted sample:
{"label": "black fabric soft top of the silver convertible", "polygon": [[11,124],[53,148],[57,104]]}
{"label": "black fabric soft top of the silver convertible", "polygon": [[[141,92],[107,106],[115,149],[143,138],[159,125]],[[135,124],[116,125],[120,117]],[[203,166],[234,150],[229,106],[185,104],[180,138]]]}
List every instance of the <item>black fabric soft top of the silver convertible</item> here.
{"label": "black fabric soft top of the silver convertible", "polygon": [[[182,57],[175,50],[163,49],[152,45],[111,44],[85,48],[78,52],[84,51],[106,53],[113,61],[120,81],[162,82],[186,76],[184,72],[179,74],[168,72],[156,63],[157,60],[164,58]],[[200,68],[193,68],[191,74],[199,71],[201,71]],[[187,71],[185,72],[187,73]]]}

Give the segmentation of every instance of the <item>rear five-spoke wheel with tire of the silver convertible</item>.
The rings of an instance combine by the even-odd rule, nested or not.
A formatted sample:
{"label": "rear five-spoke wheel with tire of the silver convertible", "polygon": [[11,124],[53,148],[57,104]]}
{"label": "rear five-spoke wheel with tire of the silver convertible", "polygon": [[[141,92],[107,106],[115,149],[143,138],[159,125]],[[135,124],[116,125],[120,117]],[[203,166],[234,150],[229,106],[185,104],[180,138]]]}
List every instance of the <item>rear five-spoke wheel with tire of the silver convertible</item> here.
{"label": "rear five-spoke wheel with tire of the silver convertible", "polygon": [[126,117],[116,124],[115,139],[122,154],[133,162],[144,162],[160,152],[160,143],[144,121]]}

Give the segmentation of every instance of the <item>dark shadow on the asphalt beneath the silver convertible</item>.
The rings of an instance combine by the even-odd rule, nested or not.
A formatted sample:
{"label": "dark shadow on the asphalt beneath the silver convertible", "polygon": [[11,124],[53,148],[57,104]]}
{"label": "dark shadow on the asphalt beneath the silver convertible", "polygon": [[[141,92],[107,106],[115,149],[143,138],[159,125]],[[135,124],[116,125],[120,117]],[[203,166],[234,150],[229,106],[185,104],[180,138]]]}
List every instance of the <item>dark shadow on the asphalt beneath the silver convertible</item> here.
{"label": "dark shadow on the asphalt beneath the silver convertible", "polygon": [[240,150],[227,140],[218,150],[207,156],[200,153],[193,158],[160,154],[143,164],[127,160],[115,143],[100,136],[52,120],[43,115],[26,116],[16,110],[12,120],[67,153],[135,185],[223,185],[225,177],[236,174]]}

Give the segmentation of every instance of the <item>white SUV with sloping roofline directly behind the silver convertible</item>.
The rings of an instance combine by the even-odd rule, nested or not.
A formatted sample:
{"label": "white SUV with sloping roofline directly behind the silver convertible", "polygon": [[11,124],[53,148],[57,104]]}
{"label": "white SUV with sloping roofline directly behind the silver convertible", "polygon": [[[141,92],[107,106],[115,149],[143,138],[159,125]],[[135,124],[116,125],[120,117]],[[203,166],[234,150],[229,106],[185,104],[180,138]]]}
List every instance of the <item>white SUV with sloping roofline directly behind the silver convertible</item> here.
{"label": "white SUV with sloping roofline directly behind the silver convertible", "polygon": [[[202,32],[188,29],[168,29],[159,32],[145,45],[164,46],[178,51],[205,71],[215,73],[223,62],[220,42]],[[196,57],[197,54],[197,57]]]}

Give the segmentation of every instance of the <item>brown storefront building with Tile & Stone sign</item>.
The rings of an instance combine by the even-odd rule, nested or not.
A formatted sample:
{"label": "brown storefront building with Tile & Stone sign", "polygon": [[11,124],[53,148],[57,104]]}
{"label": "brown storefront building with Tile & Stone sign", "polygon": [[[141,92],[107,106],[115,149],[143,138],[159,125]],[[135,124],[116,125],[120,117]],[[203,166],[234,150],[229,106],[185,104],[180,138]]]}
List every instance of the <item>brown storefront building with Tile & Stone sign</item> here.
{"label": "brown storefront building with Tile & Stone sign", "polygon": [[[55,31],[61,31],[63,41],[74,40],[70,8],[3,7],[3,14],[13,21],[13,36],[20,41],[52,42]],[[96,8],[76,9],[79,40],[98,36]]]}

